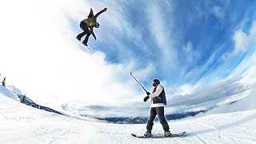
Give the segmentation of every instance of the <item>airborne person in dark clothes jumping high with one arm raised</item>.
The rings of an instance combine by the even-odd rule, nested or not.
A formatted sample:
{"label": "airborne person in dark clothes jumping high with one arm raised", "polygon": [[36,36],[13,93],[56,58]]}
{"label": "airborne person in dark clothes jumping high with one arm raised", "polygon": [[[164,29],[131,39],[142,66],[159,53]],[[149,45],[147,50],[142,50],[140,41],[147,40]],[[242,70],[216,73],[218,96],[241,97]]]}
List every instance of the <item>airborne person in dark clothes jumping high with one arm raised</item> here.
{"label": "airborne person in dark clothes jumping high with one arm raised", "polygon": [[[105,12],[107,8],[105,7],[101,11],[99,11],[97,14],[94,15],[94,12],[92,9],[90,9],[90,14],[88,15],[88,18],[82,20],[80,22],[80,28],[83,30],[81,34],[78,34],[76,37],[79,41],[81,41],[81,38],[86,35],[85,40],[82,42],[83,45],[88,46],[87,42],[90,37],[90,34],[94,36],[94,39],[96,41],[96,36],[94,34],[94,27],[99,28],[99,23],[97,22],[97,18],[99,14],[102,14]],[[89,29],[90,28],[90,29]]]}

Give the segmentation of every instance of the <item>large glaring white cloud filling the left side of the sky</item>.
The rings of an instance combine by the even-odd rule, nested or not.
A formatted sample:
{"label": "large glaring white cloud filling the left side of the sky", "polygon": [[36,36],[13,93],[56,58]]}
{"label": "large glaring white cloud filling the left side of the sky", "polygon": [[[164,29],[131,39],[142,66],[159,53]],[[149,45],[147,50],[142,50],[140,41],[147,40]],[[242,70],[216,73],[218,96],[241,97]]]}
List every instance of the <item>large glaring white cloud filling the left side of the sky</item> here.
{"label": "large glaring white cloud filling the left side of the sky", "polygon": [[[88,53],[70,35],[72,28],[66,14],[79,19],[79,23],[85,15],[78,11],[86,11],[87,15],[89,6],[88,2],[79,1],[4,2],[0,6],[0,66],[7,83],[17,86],[35,102],[53,108],[69,102],[122,106],[140,97],[130,78],[133,61],[110,64],[105,54],[97,49]],[[111,6],[108,13],[114,13]],[[102,5],[97,6],[97,10],[101,8]],[[109,16],[102,15],[101,21]],[[122,25],[126,24],[122,21]],[[120,30],[122,27],[126,26]]]}

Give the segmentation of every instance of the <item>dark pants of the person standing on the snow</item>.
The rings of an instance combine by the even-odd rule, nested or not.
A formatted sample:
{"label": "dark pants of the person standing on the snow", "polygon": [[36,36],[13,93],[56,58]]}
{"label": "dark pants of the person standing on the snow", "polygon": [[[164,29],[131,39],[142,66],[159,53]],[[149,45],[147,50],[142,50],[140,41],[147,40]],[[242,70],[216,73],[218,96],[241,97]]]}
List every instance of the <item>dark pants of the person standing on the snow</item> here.
{"label": "dark pants of the person standing on the snow", "polygon": [[158,115],[158,119],[160,121],[160,123],[162,124],[162,128],[165,131],[169,131],[169,125],[166,121],[166,117],[165,117],[165,111],[164,111],[164,107],[151,107],[150,110],[150,118],[147,121],[147,125],[146,125],[146,130],[147,131],[151,131],[153,129],[153,125],[154,125],[154,118]]}

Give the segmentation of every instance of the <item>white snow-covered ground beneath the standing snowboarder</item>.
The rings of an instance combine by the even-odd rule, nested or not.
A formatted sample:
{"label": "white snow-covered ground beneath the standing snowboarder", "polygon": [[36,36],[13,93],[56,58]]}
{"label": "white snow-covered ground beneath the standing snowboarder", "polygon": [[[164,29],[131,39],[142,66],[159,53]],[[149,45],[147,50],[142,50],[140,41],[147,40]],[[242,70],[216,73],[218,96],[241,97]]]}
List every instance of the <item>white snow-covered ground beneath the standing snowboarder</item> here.
{"label": "white snow-covered ground beneath the standing snowboarder", "polygon": [[[256,143],[256,110],[212,114],[186,121],[170,121],[173,133],[184,138],[138,139],[145,124],[111,124],[70,118],[34,109],[0,90],[0,143]],[[162,134],[156,122],[154,134]]]}

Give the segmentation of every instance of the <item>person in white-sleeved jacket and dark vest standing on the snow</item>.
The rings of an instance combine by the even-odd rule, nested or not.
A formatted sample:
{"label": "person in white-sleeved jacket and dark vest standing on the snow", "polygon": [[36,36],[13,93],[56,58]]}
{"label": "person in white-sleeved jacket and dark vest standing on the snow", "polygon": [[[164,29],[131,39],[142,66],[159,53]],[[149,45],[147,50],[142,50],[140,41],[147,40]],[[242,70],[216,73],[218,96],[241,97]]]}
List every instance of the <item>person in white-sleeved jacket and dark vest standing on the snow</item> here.
{"label": "person in white-sleeved jacket and dark vest standing on the snow", "polygon": [[150,118],[147,121],[146,125],[146,133],[144,136],[151,137],[151,130],[154,125],[154,118],[158,115],[158,119],[162,124],[162,128],[165,131],[164,134],[166,137],[170,137],[170,128],[166,121],[164,114],[164,107],[166,106],[166,93],[162,85],[160,85],[160,81],[158,79],[153,79],[152,85],[154,86],[153,93],[146,92],[147,96],[143,99],[146,102],[149,98],[151,98],[151,109],[150,109]]}

